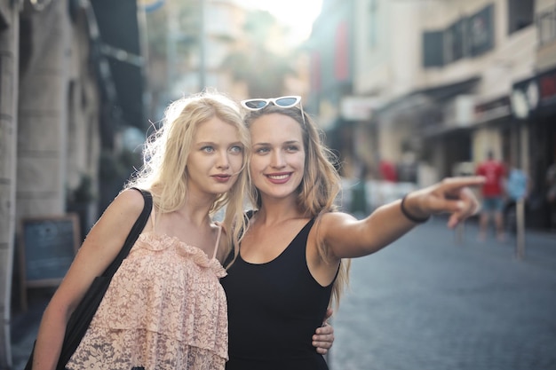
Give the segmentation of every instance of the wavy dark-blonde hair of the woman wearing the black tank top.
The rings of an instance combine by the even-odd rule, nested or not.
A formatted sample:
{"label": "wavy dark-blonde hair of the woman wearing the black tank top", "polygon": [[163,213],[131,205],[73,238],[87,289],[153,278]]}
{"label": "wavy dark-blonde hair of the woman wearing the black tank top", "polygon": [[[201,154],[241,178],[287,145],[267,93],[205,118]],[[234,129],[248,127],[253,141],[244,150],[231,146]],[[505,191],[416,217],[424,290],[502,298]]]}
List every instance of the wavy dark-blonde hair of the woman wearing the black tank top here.
{"label": "wavy dark-blonde hair of the woman wearing the black tank top", "polygon": [[[297,106],[282,108],[268,105],[258,111],[246,114],[245,122],[249,128],[252,122],[266,114],[283,114],[298,122],[303,135],[305,149],[305,173],[298,187],[298,209],[307,217],[316,217],[317,235],[319,218],[323,213],[338,210],[335,201],[341,191],[341,181],[335,165],[338,156],[323,144],[324,134],[316,127],[311,117]],[[260,209],[261,197],[258,189],[250,181],[250,201]],[[318,240],[318,238],[317,238]],[[329,261],[327,248],[319,245],[319,252],[324,261]],[[332,287],[332,301],[339,306],[340,297],[349,284],[349,270],[351,259],[342,259],[338,276]]]}

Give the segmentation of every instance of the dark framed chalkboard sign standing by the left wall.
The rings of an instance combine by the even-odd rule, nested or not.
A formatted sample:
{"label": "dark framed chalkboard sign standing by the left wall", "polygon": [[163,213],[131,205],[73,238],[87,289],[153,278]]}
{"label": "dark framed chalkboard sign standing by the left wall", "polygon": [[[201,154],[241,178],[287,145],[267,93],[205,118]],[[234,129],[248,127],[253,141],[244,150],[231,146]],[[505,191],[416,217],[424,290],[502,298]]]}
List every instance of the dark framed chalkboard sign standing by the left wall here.
{"label": "dark framed chalkboard sign standing by the left wall", "polygon": [[28,287],[56,287],[79,248],[75,214],[22,218],[20,221],[21,305],[27,308]]}

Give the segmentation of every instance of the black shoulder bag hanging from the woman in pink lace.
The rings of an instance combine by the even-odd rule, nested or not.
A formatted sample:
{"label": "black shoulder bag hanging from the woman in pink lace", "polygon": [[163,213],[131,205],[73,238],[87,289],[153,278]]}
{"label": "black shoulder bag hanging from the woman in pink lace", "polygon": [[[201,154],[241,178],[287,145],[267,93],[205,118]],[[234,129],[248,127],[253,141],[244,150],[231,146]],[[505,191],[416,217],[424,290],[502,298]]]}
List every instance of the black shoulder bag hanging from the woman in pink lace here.
{"label": "black shoulder bag hanging from the woman in pink lace", "polygon": [[[120,264],[122,264],[123,259],[130,253],[131,247],[135,244],[135,241],[139,238],[139,234],[145,228],[147,224],[148,216],[150,216],[151,210],[153,208],[153,198],[150,193],[146,190],[133,188],[139,190],[143,194],[145,200],[145,207],[139,215],[133,227],[131,227],[131,232],[127,236],[127,239],[123,243],[123,247],[120,253],[115,257],[112,264],[108,265],[105,272],[102,275],[96,277],[89,287],[89,290],[83,295],[83,300],[75,307],[75,311],[71,314],[68,319],[68,326],[66,327],[66,335],[64,336],[64,342],[60,351],[60,358],[58,359],[57,370],[64,370],[69,358],[74,354],[77,346],[83,339],[83,335],[87,332],[89,325],[91,324],[92,317],[99,308],[99,304],[107,291],[110,281],[114,276]],[[28,363],[25,366],[25,370],[31,370],[33,368],[33,353],[35,352],[35,346],[31,351]]]}

